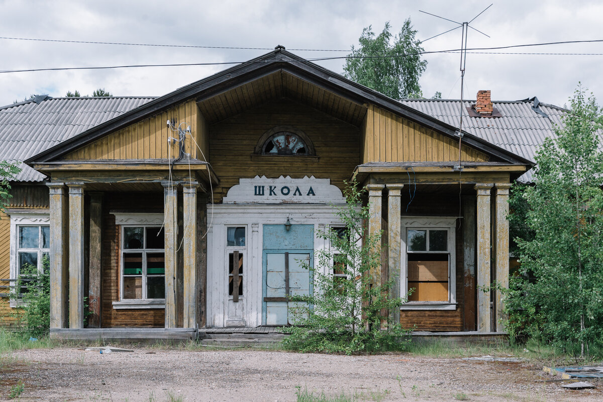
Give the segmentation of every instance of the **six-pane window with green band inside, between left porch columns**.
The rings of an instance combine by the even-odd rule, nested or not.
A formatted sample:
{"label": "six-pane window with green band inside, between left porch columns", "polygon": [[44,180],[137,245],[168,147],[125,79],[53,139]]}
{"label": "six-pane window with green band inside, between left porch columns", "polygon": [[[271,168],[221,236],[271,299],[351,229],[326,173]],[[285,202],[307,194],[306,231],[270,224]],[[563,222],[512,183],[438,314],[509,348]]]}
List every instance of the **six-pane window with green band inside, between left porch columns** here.
{"label": "six-pane window with green band inside, between left porch columns", "polygon": [[165,300],[163,228],[124,226],[121,238],[121,300]]}

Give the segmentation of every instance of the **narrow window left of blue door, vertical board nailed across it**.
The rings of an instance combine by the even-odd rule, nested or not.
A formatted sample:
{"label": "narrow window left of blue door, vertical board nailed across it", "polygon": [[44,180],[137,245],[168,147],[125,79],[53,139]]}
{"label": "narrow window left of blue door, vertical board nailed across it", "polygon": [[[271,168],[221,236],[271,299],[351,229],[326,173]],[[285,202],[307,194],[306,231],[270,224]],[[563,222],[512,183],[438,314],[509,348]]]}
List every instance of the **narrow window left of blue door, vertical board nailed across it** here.
{"label": "narrow window left of blue door, vertical board nailed across it", "polygon": [[226,228],[226,253],[228,255],[229,299],[238,302],[243,295],[243,275],[245,274],[245,230],[244,226]]}

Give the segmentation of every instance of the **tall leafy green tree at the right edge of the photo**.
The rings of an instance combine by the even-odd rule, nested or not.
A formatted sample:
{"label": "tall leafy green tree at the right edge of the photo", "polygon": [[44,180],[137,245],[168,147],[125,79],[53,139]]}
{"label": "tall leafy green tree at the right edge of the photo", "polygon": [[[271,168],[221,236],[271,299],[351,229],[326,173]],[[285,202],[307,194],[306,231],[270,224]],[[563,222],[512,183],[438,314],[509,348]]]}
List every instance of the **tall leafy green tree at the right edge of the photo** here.
{"label": "tall leafy green tree at the right edge of the photo", "polygon": [[579,87],[557,139],[538,151],[535,186],[518,187],[511,201],[525,203],[528,235],[516,238],[521,269],[507,294],[508,329],[581,356],[603,339],[602,122]]}

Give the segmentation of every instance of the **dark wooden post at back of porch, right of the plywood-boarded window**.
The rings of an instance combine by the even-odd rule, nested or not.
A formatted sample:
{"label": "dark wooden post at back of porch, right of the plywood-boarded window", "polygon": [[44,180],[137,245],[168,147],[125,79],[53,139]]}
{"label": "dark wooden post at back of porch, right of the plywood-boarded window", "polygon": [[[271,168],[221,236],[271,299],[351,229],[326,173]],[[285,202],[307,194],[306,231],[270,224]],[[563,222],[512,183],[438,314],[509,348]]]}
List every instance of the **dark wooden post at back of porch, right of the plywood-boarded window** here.
{"label": "dark wooden post at back of porch, right of the plywood-boarded window", "polygon": [[463,330],[475,331],[475,197],[463,195]]}

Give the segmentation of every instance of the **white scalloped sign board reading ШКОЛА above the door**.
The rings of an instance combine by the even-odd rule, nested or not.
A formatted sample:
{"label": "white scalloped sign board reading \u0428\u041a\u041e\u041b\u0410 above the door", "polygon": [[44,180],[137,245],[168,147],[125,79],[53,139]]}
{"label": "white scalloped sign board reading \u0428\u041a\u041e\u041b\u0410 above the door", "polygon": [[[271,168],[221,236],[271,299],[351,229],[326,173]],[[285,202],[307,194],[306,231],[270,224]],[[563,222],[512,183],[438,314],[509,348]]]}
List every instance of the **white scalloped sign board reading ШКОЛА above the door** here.
{"label": "white scalloped sign board reading \u0428\u041a\u041e\u041b\u0410 above the door", "polygon": [[223,204],[345,204],[346,198],[328,178],[241,178]]}

